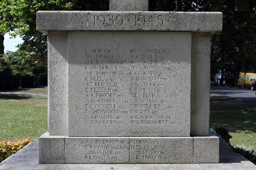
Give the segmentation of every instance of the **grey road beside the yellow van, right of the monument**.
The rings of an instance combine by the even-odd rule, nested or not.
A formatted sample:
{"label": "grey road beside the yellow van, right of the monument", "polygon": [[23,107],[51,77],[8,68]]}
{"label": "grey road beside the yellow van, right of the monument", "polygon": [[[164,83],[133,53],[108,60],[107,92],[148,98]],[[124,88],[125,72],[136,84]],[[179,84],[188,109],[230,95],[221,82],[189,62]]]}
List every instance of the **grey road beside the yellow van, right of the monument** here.
{"label": "grey road beside the yellow van, right of the monument", "polygon": [[238,87],[211,86],[210,92],[237,98],[241,102],[256,103],[255,91],[239,89]]}

